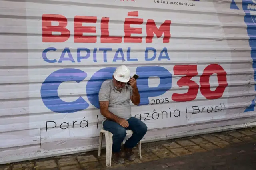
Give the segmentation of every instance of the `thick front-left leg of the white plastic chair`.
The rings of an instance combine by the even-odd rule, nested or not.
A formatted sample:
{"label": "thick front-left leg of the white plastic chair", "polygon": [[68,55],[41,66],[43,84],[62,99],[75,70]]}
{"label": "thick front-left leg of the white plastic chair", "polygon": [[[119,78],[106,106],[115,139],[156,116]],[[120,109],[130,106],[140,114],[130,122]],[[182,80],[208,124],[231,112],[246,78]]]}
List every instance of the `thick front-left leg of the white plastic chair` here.
{"label": "thick front-left leg of the white plastic chair", "polygon": [[112,158],[112,145],[113,145],[113,134],[107,132],[105,134],[106,137],[106,166],[111,166],[111,158]]}

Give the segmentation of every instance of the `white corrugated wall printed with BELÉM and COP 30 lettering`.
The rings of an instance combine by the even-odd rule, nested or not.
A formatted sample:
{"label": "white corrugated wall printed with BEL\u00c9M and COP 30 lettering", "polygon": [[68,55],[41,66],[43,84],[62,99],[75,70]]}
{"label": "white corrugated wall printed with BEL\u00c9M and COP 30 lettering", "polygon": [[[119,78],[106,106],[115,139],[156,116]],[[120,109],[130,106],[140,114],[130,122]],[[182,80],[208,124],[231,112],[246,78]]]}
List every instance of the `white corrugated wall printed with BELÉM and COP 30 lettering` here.
{"label": "white corrugated wall printed with BEL\u00c9M and COP 30 lettering", "polygon": [[[253,12],[245,11],[244,17],[244,10],[254,11],[254,3],[161,2],[0,0],[0,163],[97,148],[102,128],[98,120],[97,89],[102,81],[111,78],[114,70],[104,68],[121,64],[130,68],[131,76],[134,73],[140,76],[138,88],[143,105],[132,105],[132,115],[141,117],[148,125],[145,141],[254,125],[253,32],[256,31]],[[249,4],[252,7],[247,9]],[[129,16],[128,12],[133,11],[138,11],[138,17],[136,13]],[[64,41],[65,36],[62,40],[53,38],[51,42],[43,40],[42,16],[45,14],[64,17],[60,20],[60,16],[55,16],[55,19],[67,24],[65,27],[70,31],[67,40]],[[74,26],[76,16],[97,17],[81,25],[95,27],[88,28],[84,32],[90,33],[82,35],[97,36],[96,42],[83,42],[88,38],[74,42],[74,29],[80,26]],[[106,18],[102,17],[110,18],[108,28]],[[131,40],[128,38],[131,43],[125,42],[124,37],[131,29],[124,24],[129,21],[127,18],[133,18],[130,27],[137,28],[134,32],[139,35]],[[140,19],[143,24],[139,24]],[[161,38],[154,34],[152,43],[146,43],[147,36],[150,39],[147,23],[152,20],[158,28],[166,20],[171,21],[171,38],[167,38],[167,42],[163,40],[167,34],[160,34]],[[51,22],[50,25],[59,23]],[[122,43],[101,43],[102,28],[105,34],[108,29],[110,36],[122,37]],[[52,51],[46,52],[49,48]],[[65,48],[70,52],[63,52]],[[80,60],[78,48],[84,50]],[[90,50],[89,56],[84,48]],[[117,52],[118,48],[122,48],[123,55]],[[156,58],[152,59],[154,53]],[[194,65],[196,69],[184,66],[185,74],[182,75],[178,65]],[[219,65],[224,71],[209,65]],[[204,71],[206,67],[209,69]],[[100,69],[104,70],[97,72]],[[208,80],[210,90],[224,88],[227,82],[223,93],[204,92],[208,86],[201,77],[211,71],[215,72]],[[191,81],[180,81],[186,73],[193,75]],[[49,75],[52,77],[47,79]],[[198,92],[188,95],[188,86],[179,85],[192,85],[192,91]],[[196,89],[196,85],[200,89]],[[174,93],[184,95],[174,99]],[[213,99],[214,95],[220,97]],[[187,100],[193,96],[194,100]]]}

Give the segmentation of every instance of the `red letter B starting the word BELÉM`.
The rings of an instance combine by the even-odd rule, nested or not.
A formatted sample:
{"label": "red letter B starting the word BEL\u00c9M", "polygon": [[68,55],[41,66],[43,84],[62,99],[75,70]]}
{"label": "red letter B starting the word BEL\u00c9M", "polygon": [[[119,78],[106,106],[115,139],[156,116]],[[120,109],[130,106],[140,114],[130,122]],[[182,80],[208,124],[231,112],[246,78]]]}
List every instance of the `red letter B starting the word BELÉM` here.
{"label": "red letter B starting the word BEL\u00c9M", "polygon": [[[59,23],[53,26],[52,22]],[[65,42],[70,37],[70,31],[66,28],[68,20],[63,15],[42,15],[42,41],[43,42]],[[60,35],[52,35],[52,32],[60,32]]]}

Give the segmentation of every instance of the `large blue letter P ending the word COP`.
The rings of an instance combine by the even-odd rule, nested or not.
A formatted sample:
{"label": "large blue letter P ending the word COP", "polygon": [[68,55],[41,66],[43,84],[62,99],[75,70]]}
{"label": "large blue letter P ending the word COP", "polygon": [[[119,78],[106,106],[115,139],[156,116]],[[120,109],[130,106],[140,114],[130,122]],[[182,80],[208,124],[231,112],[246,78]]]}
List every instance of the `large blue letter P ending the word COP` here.
{"label": "large blue letter P ending the word COP", "polygon": [[[149,97],[160,96],[172,88],[172,74],[164,67],[138,67],[136,72],[137,75],[140,76],[140,78],[137,79],[137,86],[140,91],[140,105],[148,105]],[[150,77],[160,78],[158,87],[148,86],[148,79]]]}

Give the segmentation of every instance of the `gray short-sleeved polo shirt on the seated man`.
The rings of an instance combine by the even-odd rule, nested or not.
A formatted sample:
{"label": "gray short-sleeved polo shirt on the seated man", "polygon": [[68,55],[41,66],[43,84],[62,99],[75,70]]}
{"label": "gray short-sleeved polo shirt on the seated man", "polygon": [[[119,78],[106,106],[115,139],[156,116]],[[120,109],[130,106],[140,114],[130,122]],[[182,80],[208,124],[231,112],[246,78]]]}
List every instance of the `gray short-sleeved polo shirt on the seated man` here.
{"label": "gray short-sleeved polo shirt on the seated man", "polygon": [[[102,85],[99,92],[99,101],[109,101],[108,110],[114,115],[129,119],[131,115],[130,99],[132,96],[132,87],[125,85],[121,93],[114,87],[113,81],[110,81]],[[102,116],[102,122],[106,120],[106,117]]]}

